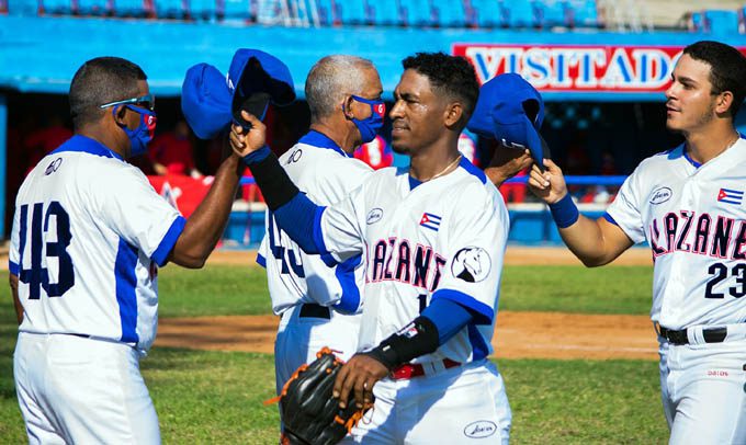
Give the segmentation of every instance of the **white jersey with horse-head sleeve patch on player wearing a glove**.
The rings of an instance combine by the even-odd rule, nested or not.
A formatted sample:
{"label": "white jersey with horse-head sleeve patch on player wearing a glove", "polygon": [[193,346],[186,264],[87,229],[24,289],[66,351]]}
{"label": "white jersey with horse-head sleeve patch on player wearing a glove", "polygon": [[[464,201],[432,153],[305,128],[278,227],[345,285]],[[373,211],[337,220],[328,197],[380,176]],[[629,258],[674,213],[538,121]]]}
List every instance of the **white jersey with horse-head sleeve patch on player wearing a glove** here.
{"label": "white jersey with horse-head sleeve patch on player wearing a glove", "polygon": [[364,255],[361,350],[417,318],[438,290],[437,298],[478,317],[415,362],[482,360],[491,352],[508,212],[484,172],[465,159],[453,172],[411,187],[407,170],[374,172],[325,209],[316,244],[337,261]]}

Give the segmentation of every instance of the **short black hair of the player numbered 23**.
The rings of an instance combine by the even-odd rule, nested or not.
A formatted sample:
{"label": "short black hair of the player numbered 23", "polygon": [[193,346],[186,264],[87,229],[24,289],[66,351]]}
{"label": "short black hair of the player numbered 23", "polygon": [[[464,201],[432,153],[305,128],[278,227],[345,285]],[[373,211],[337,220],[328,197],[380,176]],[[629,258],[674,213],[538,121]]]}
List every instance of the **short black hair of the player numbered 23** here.
{"label": "short black hair of the player numbered 23", "polygon": [[713,94],[733,93],[728,112],[735,117],[746,96],[746,57],[731,45],[712,41],[693,43],[683,48],[683,54],[710,66]]}

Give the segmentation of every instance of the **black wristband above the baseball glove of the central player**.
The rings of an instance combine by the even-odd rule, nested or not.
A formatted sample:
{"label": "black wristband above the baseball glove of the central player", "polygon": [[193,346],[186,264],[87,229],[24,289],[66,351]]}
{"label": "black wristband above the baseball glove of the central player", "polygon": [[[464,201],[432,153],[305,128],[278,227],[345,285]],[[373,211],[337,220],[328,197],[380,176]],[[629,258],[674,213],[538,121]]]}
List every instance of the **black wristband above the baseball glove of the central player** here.
{"label": "black wristband above the baseball glove of the central player", "polygon": [[363,353],[381,362],[388,370],[438,349],[438,327],[427,317],[417,317],[397,333]]}

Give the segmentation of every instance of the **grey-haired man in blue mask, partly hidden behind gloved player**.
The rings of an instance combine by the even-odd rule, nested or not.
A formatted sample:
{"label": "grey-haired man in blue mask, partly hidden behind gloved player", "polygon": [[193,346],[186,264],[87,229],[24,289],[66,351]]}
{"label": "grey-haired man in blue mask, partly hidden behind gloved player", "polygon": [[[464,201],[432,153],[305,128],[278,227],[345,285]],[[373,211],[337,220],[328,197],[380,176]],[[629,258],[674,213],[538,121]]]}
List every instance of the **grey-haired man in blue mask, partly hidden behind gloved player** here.
{"label": "grey-haired man in blue mask, partly hidden behind gloved player", "polygon": [[[341,201],[372,169],[351,157],[375,138],[385,105],[378,72],[354,56],[320,59],[306,79],[312,124],[308,134],[280,158],[287,175],[320,205]],[[278,393],[298,366],[324,346],[348,360],[358,347],[362,256],[328,266],[306,254],[267,213],[258,262],[267,267],[272,310],[282,316],[274,344]]]}

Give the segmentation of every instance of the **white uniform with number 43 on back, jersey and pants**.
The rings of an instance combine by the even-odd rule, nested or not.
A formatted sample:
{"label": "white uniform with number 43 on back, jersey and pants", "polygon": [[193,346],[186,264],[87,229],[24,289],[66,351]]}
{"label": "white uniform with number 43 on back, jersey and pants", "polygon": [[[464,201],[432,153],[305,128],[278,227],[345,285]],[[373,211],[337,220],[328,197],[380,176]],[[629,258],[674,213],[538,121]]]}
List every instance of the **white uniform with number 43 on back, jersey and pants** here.
{"label": "white uniform with number 43 on back, jersey and pants", "polygon": [[23,322],[14,356],[32,443],[155,443],[139,375],[158,316],[157,266],[185,219],[136,168],[74,136],[15,199],[10,272]]}

